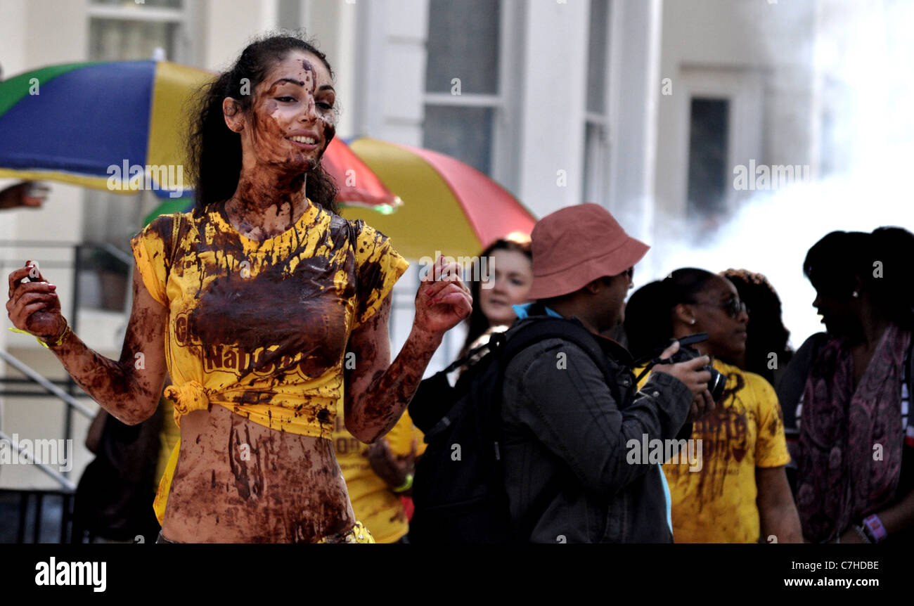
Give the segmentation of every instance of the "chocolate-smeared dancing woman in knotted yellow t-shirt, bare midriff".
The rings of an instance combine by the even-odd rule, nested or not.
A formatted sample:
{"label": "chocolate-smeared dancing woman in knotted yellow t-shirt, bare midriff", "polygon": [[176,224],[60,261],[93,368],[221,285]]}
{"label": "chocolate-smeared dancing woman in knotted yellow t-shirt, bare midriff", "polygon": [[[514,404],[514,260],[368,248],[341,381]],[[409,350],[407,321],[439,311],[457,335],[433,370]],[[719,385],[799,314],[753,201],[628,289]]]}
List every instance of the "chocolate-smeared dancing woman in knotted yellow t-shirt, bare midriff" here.
{"label": "chocolate-smeared dancing woman in knotted yellow t-shirt, bare midriff", "polygon": [[329,439],[336,401],[346,429],[376,441],[470,313],[456,264],[439,262],[390,361],[390,290],[409,264],[383,234],[335,214],[320,166],[334,133],[333,72],[297,37],[252,43],[204,90],[190,141],[197,207],[133,239],[118,360],[69,330],[30,261],[9,275],[13,324],[116,418],[149,418],[167,370],[181,441],[157,498],[163,541],[372,542]]}

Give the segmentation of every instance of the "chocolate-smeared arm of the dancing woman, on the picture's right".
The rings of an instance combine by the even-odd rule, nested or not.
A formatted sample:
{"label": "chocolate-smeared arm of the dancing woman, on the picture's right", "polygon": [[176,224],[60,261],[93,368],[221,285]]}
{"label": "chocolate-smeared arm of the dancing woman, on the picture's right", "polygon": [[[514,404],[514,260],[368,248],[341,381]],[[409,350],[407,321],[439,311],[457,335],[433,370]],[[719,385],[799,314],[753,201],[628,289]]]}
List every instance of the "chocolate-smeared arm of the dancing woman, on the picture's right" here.
{"label": "chocolate-smeared arm of the dancing woman, on the picture's right", "polygon": [[390,297],[388,293],[377,313],[349,336],[348,350],[356,358],[354,367],[345,375],[345,429],[369,444],[397,424],[444,333],[473,309],[470,289],[460,278],[459,266],[444,265],[439,258],[434,271],[420,282],[412,330],[391,363]]}

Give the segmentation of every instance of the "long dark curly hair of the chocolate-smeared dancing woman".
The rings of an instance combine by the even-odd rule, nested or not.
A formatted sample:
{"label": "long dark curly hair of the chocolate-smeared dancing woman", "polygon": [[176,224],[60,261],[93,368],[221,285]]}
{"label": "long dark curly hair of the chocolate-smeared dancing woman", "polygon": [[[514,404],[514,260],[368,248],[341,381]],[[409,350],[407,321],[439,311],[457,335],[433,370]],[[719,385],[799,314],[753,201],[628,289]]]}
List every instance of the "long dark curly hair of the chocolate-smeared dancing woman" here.
{"label": "long dark curly hair of the chocolate-smeared dancing woman", "polygon": [[[333,78],[326,56],[312,42],[297,34],[268,35],[251,42],[241,51],[235,64],[197,93],[196,116],[187,140],[187,172],[196,184],[195,207],[228,200],[238,187],[241,174],[241,136],[231,131],[222,114],[222,101],[230,97],[239,111],[250,112],[252,94],[242,94],[244,84],[254,90],[274,63],[292,50],[301,50],[321,59]],[[318,164],[308,173],[305,196],[324,209],[338,214],[337,187],[332,176]]]}

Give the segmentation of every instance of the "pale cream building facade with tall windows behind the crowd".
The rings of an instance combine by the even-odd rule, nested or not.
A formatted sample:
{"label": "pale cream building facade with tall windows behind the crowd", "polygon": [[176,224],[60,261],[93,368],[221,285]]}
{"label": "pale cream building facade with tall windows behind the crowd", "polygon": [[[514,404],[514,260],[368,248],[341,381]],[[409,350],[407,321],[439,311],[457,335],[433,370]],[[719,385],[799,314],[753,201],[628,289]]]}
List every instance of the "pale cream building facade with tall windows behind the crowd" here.
{"label": "pale cream building facade with tall windows behind the crowd", "polygon": [[[0,67],[8,78],[53,63],[158,57],[218,70],[251,37],[303,27],[335,69],[339,136],[452,154],[491,175],[539,217],[600,203],[662,251],[680,220],[696,214],[711,220],[739,207],[727,186],[733,165],[749,159],[816,164],[809,116],[817,98],[803,55],[809,50],[772,40],[771,32],[814,36],[820,3],[746,2],[740,4],[749,7],[730,10],[733,4],[0,0]],[[691,136],[702,132],[707,136]],[[2,211],[2,270],[39,260],[68,310],[77,286],[68,269],[73,245],[92,241],[127,251],[153,204],[52,184],[41,209]],[[57,246],[45,246],[48,240]],[[659,266],[651,259],[645,275]],[[395,355],[409,333],[418,284],[413,265],[395,292]],[[80,302],[80,336],[118,356],[129,302],[104,309],[92,299],[105,290],[101,282],[79,286],[87,299]],[[454,333],[430,371],[462,345],[460,331]],[[65,377],[57,359],[23,335],[2,331],[0,348],[46,377]],[[89,420],[75,415],[68,422],[57,399],[7,397],[0,407],[6,433],[69,431],[78,454],[70,477],[79,477],[90,459],[81,445]],[[0,470],[0,486],[53,484],[26,466]]]}

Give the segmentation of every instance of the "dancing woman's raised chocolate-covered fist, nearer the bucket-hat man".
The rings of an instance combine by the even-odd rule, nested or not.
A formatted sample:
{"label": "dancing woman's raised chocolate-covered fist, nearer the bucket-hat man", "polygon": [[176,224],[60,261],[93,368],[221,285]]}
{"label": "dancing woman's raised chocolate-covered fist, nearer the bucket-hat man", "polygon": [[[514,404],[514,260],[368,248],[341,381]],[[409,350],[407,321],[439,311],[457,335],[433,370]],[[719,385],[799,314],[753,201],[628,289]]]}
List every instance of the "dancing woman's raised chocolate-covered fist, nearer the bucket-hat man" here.
{"label": "dancing woman's raised chocolate-covered fist, nearer the bucket-hat man", "polygon": [[473,297],[463,283],[459,263],[439,256],[422,278],[416,293],[413,324],[433,335],[444,335],[473,311]]}

